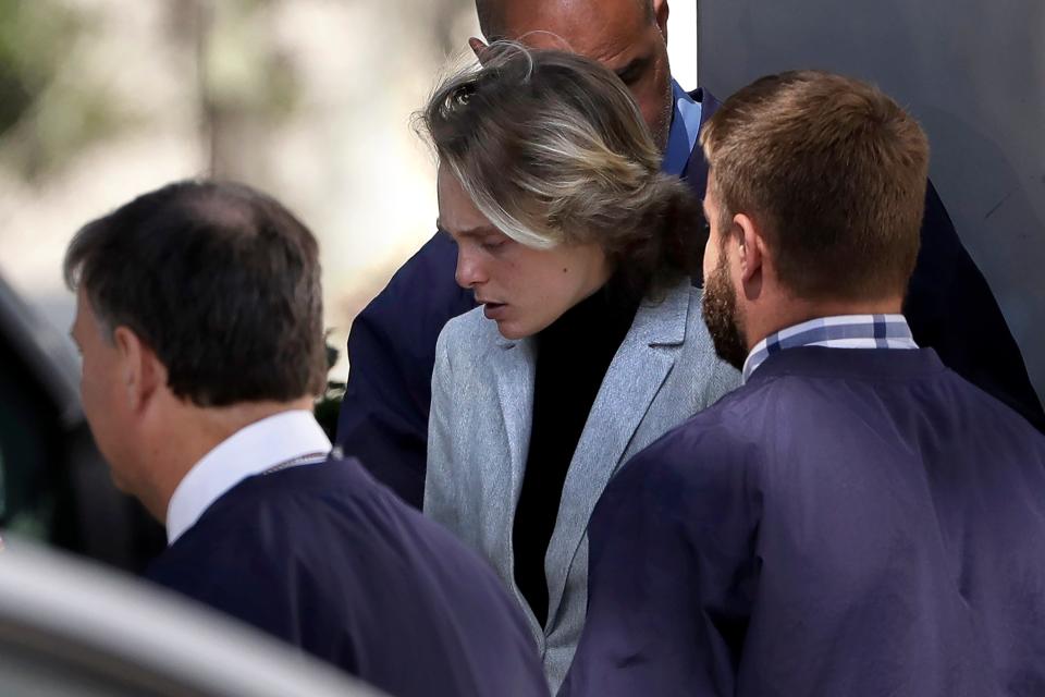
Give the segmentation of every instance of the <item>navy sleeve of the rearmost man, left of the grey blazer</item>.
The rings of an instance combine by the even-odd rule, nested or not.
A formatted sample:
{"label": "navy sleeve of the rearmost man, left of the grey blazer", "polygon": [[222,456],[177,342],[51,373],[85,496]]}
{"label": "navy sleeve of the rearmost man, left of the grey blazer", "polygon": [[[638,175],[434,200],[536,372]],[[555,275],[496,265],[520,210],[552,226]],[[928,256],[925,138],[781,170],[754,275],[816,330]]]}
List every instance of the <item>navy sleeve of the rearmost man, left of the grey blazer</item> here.
{"label": "navy sleeve of the rearmost man, left of the grey blazer", "polygon": [[356,317],[337,444],[376,479],[420,508],[435,340],[475,306],[454,280],[457,247],[437,234]]}

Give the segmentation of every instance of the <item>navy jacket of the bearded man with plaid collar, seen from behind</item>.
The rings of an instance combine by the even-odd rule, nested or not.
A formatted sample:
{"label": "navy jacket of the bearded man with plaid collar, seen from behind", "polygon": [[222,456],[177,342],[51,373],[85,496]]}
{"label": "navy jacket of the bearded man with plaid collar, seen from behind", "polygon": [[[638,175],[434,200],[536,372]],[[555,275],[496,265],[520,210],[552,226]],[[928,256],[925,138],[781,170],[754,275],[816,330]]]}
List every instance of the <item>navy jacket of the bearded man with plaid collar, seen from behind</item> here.
{"label": "navy jacket of the bearded man with plaid collar, seen from behind", "polygon": [[589,536],[561,695],[1045,695],[1045,437],[932,350],[770,356]]}

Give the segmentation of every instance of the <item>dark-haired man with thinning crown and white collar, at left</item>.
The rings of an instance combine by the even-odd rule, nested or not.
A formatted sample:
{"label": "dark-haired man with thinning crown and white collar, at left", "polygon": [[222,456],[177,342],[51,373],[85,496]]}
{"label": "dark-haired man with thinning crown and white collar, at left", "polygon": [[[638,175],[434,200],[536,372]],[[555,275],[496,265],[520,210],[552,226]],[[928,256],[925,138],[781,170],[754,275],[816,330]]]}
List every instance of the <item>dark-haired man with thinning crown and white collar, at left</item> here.
{"label": "dark-haired man with thinning crown and white collar, at left", "polygon": [[169,545],[148,576],[391,695],[546,694],[490,568],[331,453],[312,234],[246,186],[181,182],[65,257],[84,412]]}

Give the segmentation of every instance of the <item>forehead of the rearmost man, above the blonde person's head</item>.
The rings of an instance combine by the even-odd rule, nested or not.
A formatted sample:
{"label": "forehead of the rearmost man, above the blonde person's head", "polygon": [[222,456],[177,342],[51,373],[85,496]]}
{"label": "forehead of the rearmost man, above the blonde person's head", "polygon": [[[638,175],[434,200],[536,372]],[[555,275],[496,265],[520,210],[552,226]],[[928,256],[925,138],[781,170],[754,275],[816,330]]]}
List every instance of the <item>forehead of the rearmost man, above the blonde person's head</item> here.
{"label": "forehead of the rearmost man, above the blonde person's head", "polygon": [[537,48],[569,48],[598,61],[612,61],[637,49],[648,26],[637,0],[503,2],[507,38],[522,38]]}

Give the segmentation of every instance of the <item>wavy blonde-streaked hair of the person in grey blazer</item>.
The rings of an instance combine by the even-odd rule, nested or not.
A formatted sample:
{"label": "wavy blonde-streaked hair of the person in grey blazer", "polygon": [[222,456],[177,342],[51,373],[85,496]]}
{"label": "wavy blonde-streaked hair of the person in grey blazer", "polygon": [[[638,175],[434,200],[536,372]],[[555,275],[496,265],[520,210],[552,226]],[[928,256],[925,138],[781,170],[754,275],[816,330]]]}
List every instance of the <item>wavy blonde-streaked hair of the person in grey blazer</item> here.
{"label": "wavy blonde-streaked hair of the person in grey blazer", "polygon": [[698,265],[699,204],[661,172],[631,94],[599,63],[497,41],[419,117],[440,163],[520,244],[598,244],[643,292]]}

